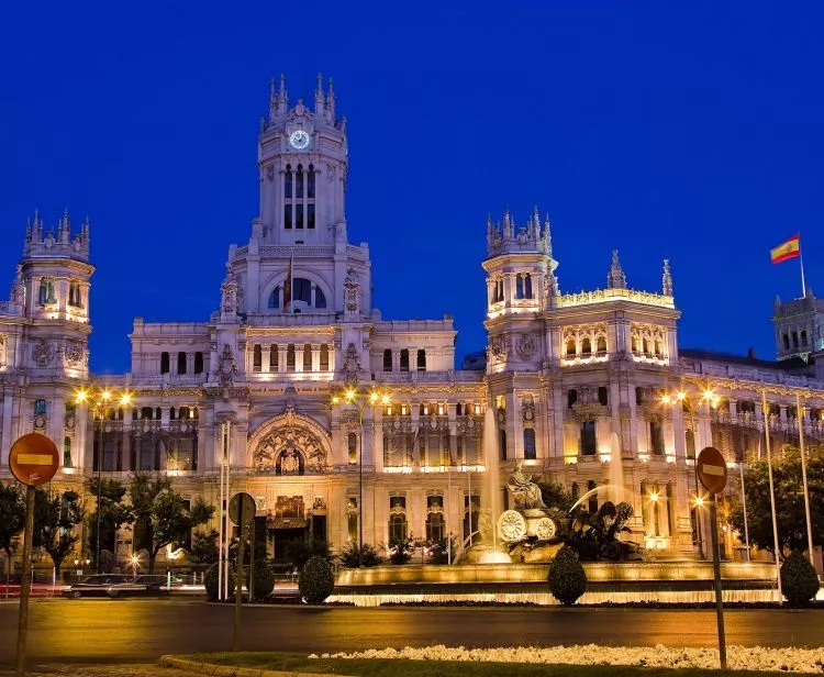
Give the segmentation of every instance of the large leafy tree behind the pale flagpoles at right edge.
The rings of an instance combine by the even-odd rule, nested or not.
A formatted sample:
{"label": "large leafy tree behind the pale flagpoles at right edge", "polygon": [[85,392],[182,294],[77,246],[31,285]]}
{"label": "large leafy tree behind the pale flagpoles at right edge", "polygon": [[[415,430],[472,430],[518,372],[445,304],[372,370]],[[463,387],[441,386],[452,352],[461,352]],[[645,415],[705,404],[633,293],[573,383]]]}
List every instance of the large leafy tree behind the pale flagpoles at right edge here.
{"label": "large leafy tree behind the pale flagpoles at right edge", "polygon": [[[808,450],[806,478],[810,493],[813,545],[824,545],[824,446]],[[799,450],[784,445],[772,455],[772,481],[776,488],[776,515],[778,523],[779,558],[787,551],[805,551],[806,515],[801,476]],[[730,499],[730,523],[744,539],[744,510],[741,502],[741,480]],[[759,548],[775,550],[772,540],[772,515],[770,513],[770,487],[767,459],[754,460],[744,474],[744,490],[747,499],[747,528],[750,543]]]}

